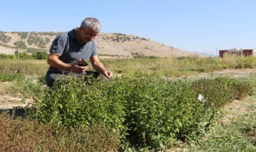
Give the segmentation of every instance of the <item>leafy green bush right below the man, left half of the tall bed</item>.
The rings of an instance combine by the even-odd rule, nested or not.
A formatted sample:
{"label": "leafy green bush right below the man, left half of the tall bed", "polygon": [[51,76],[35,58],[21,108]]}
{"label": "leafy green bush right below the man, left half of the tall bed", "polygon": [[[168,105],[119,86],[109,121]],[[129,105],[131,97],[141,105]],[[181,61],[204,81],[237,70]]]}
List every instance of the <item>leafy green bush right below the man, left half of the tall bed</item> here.
{"label": "leafy green bush right below the man, left half of the tall bed", "polygon": [[[34,103],[38,109],[37,118],[44,123],[55,122],[59,126],[88,128],[90,124],[101,124],[115,133],[123,134],[126,128],[122,124],[125,114],[121,97],[109,98],[102,83],[95,87],[72,76],[57,80],[53,88],[37,95]],[[88,83],[91,83],[90,80]],[[110,94],[113,95],[113,92]],[[44,103],[46,100],[49,102]]]}

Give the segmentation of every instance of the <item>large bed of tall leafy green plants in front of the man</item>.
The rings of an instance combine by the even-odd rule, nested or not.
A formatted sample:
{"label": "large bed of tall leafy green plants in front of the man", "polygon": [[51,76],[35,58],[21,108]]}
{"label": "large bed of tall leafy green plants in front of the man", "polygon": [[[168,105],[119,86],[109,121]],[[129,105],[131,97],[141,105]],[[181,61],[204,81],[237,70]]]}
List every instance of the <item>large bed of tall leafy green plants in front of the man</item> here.
{"label": "large bed of tall leafy green plants in front of the man", "polygon": [[167,81],[136,74],[105,81],[69,75],[40,91],[28,116],[57,128],[101,124],[119,133],[123,148],[159,150],[176,139],[193,143],[204,136],[218,109],[237,97],[236,85],[251,89],[229,78]]}

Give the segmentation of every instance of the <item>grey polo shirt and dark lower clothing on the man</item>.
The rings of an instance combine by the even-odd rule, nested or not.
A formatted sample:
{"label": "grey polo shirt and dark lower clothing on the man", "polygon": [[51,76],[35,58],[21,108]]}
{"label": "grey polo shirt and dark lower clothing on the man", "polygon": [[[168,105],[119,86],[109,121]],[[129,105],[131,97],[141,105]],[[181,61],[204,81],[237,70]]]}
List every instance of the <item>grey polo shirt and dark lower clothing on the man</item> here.
{"label": "grey polo shirt and dark lower clothing on the man", "polygon": [[[63,61],[63,63],[73,64],[79,60],[79,58],[89,60],[91,55],[98,54],[96,41],[92,40],[88,43],[80,44],[76,38],[75,30],[76,29],[73,29],[58,35],[52,42],[52,46],[49,50],[50,54],[60,55],[59,59]],[[55,75],[68,73],[68,71],[49,66],[46,73],[46,84],[51,86],[52,82],[55,80]]]}

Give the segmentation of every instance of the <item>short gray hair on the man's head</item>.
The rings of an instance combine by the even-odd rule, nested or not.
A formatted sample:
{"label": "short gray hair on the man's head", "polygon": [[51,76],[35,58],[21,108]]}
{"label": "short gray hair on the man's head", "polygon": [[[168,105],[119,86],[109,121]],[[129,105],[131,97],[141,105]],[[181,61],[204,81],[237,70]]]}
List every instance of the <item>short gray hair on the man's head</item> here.
{"label": "short gray hair on the man's head", "polygon": [[101,31],[101,24],[99,23],[99,20],[96,18],[85,18],[82,23],[81,26],[84,29],[87,28],[92,28],[95,32],[100,32]]}

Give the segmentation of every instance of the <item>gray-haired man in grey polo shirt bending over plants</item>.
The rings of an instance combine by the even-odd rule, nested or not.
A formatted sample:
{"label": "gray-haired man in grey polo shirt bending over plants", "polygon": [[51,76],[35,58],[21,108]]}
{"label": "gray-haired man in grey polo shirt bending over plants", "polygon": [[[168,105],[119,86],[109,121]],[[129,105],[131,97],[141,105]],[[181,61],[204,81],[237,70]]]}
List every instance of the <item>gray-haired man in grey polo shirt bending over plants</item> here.
{"label": "gray-haired man in grey polo shirt bending over plants", "polygon": [[101,30],[96,18],[85,18],[79,28],[58,35],[49,50],[49,69],[46,73],[46,85],[52,86],[57,74],[85,74],[87,66],[78,66],[81,59],[90,58],[93,68],[107,78],[113,76],[99,61],[95,41]]}

